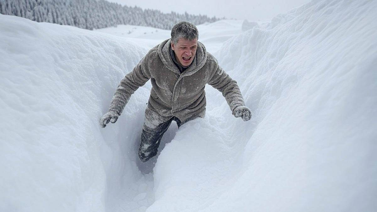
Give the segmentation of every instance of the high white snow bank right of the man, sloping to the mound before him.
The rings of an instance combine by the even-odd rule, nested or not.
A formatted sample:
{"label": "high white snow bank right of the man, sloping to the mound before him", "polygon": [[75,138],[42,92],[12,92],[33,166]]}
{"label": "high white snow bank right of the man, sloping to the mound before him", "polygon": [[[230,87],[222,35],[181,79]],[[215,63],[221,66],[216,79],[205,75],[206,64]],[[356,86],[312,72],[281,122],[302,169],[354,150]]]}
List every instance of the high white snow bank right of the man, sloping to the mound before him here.
{"label": "high white snow bank right of the man, sloping to the mound before him", "polygon": [[228,40],[216,57],[253,117],[208,89],[222,105],[162,151],[147,211],[375,210],[376,11],[313,1]]}

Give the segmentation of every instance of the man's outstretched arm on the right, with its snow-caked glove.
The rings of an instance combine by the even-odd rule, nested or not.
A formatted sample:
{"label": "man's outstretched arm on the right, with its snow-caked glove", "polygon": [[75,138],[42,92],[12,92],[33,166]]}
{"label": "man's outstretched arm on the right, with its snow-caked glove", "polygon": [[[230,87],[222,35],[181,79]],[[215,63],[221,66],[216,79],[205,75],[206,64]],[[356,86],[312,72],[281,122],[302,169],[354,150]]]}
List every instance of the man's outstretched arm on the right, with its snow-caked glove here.
{"label": "man's outstretched arm on the right, with its snow-caked glove", "polygon": [[237,81],[230,78],[219,65],[208,84],[222,93],[234,117],[241,117],[244,121],[250,120],[251,111],[245,106],[244,97],[242,97]]}

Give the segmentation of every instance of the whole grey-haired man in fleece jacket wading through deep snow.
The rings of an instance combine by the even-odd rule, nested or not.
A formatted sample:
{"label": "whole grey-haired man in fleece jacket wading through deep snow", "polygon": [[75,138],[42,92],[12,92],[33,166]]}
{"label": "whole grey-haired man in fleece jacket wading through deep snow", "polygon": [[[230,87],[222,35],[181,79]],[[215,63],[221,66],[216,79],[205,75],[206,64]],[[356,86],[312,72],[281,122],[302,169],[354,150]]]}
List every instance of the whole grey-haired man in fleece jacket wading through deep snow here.
{"label": "whole grey-haired man in fleece jacket wading through deep snow", "polygon": [[130,96],[149,79],[152,83],[141,134],[139,158],[146,162],[157,154],[161,138],[172,121],[178,128],[187,121],[205,116],[206,84],[222,92],[232,114],[248,121],[250,109],[235,80],[198,42],[198,29],[189,22],[173,26],[171,39],[152,48],[121,80],[109,111],[100,119],[101,127],[115,123]]}

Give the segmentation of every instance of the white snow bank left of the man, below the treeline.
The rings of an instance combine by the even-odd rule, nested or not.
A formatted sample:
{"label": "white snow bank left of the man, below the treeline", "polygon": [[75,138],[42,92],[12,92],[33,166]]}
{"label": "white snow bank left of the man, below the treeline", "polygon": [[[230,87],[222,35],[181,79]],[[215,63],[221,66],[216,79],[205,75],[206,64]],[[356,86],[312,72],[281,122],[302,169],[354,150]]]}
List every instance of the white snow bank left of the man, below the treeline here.
{"label": "white snow bank left of the man, below the treeline", "polygon": [[142,194],[140,204],[133,198],[153,181],[144,179],[130,149],[148,86],[117,125],[98,125],[119,81],[147,49],[8,15],[0,15],[0,40],[0,210],[103,211],[122,184],[131,195],[115,195],[123,204],[147,204],[149,196]]}

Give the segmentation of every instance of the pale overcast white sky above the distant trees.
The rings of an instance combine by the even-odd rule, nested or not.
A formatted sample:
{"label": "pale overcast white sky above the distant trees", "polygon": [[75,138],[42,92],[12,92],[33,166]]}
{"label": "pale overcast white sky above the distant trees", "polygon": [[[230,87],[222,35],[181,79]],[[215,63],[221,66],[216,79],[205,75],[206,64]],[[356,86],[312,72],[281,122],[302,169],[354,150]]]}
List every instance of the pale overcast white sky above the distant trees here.
{"label": "pale overcast white sky above the distant trees", "polygon": [[127,6],[139,6],[143,9],[158,9],[162,12],[175,11],[190,14],[202,14],[209,17],[236,19],[269,20],[279,13],[301,6],[310,0],[108,0]]}

